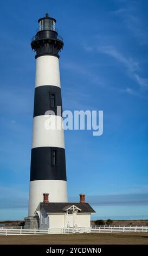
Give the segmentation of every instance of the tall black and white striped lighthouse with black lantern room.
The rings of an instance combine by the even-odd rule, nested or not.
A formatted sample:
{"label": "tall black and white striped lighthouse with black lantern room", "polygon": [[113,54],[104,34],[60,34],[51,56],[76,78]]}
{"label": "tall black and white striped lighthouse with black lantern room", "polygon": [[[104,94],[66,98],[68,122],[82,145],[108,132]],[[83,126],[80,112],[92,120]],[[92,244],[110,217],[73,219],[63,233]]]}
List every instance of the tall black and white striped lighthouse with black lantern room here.
{"label": "tall black and white striped lighthouse with black lantern room", "polygon": [[47,111],[51,122],[62,123],[57,106],[62,107],[59,51],[63,40],[55,27],[56,20],[46,14],[38,20],[39,27],[31,41],[36,52],[36,77],[31,149],[29,216],[34,212],[43,193],[50,194],[50,202],[67,202],[65,139],[62,129],[47,130]]}

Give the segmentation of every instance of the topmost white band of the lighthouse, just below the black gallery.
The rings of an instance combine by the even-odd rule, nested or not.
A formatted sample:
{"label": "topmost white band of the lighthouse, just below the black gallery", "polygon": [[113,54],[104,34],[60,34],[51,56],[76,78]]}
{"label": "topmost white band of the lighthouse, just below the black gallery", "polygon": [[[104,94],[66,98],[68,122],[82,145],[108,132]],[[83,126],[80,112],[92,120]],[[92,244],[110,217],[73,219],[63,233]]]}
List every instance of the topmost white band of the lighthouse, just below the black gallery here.
{"label": "topmost white band of the lighthouse, just below the black gallery", "polygon": [[40,56],[36,59],[35,87],[60,85],[59,58]]}

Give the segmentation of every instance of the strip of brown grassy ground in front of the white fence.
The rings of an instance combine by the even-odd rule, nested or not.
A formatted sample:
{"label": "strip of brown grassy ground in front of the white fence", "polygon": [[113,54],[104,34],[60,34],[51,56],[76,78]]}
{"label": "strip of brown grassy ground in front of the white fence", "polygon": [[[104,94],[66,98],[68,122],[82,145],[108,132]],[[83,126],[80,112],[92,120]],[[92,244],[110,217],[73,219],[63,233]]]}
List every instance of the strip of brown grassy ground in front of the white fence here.
{"label": "strip of brown grassy ground in front of the white fence", "polygon": [[148,245],[148,233],[0,236],[1,245]]}

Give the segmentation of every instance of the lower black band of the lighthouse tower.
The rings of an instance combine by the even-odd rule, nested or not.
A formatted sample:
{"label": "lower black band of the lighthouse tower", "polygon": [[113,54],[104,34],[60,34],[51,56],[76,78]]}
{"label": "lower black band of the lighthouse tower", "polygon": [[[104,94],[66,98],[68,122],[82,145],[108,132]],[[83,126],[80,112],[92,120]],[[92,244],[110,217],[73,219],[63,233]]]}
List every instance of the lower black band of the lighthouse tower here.
{"label": "lower black band of the lighthouse tower", "polygon": [[[56,166],[52,165],[52,150],[56,150]],[[30,181],[66,180],[65,149],[40,147],[31,150]]]}

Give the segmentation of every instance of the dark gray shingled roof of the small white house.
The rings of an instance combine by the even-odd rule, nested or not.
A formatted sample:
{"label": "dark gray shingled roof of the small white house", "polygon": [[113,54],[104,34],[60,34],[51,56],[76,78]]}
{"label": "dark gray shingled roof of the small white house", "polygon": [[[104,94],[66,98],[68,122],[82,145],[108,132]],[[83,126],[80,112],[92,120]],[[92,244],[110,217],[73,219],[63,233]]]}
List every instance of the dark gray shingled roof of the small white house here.
{"label": "dark gray shingled roof of the small white house", "polygon": [[40,203],[40,207],[43,207],[47,213],[62,213],[65,212],[66,207],[69,208],[73,205],[81,209],[81,211],[79,211],[81,213],[95,212],[88,203]]}

